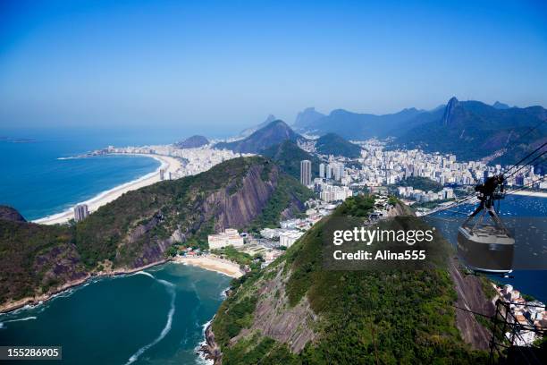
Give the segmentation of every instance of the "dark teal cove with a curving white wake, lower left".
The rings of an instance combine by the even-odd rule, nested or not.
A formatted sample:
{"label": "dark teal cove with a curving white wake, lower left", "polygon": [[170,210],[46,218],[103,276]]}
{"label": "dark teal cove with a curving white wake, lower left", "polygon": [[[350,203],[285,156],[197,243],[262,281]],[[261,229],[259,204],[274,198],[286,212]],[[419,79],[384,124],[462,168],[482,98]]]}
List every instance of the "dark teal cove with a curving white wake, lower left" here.
{"label": "dark teal cove with a curving white wake, lower left", "polygon": [[66,364],[194,364],[230,278],[165,264],[101,278],[52,301],[0,315],[2,345],[62,345]]}

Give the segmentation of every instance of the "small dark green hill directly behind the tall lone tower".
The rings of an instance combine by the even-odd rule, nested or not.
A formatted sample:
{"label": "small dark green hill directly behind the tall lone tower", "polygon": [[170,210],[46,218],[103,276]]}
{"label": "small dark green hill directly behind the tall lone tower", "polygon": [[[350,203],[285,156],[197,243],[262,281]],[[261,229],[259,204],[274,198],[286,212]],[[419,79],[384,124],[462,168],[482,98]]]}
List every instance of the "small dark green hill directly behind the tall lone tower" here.
{"label": "small dark green hill directly behind the tall lone tower", "polygon": [[279,165],[282,170],[290,174],[295,179],[300,179],[300,161],[309,160],[312,163],[312,178],[319,175],[319,164],[321,160],[314,155],[300,149],[299,146],[291,141],[285,140],[281,144],[265,149],[261,155],[269,157]]}

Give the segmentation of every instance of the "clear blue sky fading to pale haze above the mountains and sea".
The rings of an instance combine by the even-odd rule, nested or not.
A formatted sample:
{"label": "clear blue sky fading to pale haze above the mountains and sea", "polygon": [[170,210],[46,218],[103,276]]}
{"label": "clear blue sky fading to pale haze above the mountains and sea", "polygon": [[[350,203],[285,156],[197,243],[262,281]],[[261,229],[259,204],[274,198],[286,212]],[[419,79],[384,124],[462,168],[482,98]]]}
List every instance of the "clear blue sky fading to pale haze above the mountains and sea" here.
{"label": "clear blue sky fading to pale haze above the mountains and sea", "polygon": [[0,126],[239,131],[451,96],[547,106],[547,6],[0,1]]}

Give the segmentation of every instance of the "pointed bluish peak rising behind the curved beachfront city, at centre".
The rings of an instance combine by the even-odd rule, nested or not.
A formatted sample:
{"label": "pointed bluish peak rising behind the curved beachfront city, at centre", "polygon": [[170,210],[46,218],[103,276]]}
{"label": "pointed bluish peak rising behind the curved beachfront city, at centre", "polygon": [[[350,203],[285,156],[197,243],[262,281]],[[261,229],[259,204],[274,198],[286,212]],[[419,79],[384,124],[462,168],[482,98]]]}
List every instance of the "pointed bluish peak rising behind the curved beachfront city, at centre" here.
{"label": "pointed bluish peak rising behind the curved beachfront city, at centre", "polygon": [[292,129],[287,123],[281,120],[273,121],[253,132],[250,136],[243,140],[233,142],[221,142],[215,145],[216,149],[231,149],[234,152],[240,153],[259,153],[260,151],[280,144],[285,140],[293,142],[299,140],[300,135]]}

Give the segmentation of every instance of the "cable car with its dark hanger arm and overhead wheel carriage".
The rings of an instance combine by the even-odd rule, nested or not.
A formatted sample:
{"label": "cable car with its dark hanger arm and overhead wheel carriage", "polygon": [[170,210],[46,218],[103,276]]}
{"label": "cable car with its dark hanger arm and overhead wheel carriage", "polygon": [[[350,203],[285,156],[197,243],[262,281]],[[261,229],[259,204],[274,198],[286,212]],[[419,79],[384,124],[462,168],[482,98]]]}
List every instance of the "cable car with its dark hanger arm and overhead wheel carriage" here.
{"label": "cable car with its dark hanger arm and overhead wheel carriage", "polygon": [[503,175],[496,175],[475,187],[480,204],[459,227],[458,255],[471,270],[492,274],[513,270],[515,239],[494,209],[495,200],[503,199],[503,182]]}

